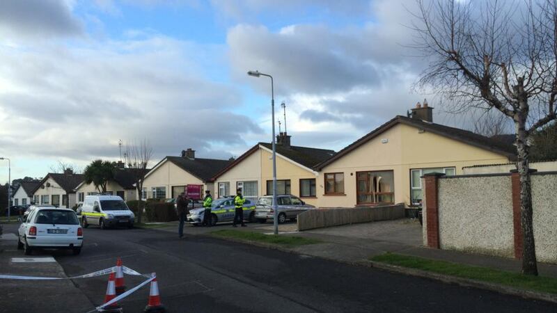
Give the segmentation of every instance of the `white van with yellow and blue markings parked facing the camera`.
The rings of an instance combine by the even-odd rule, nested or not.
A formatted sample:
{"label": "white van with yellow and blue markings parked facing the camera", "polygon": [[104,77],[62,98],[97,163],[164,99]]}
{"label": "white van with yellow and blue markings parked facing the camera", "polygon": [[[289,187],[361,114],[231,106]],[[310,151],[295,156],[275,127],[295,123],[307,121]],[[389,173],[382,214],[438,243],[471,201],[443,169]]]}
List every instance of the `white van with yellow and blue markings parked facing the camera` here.
{"label": "white van with yellow and blue markings parked facing the camera", "polygon": [[81,207],[81,226],[134,227],[134,213],[118,195],[87,195]]}

